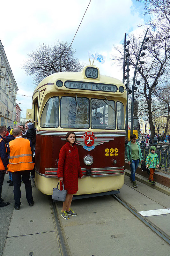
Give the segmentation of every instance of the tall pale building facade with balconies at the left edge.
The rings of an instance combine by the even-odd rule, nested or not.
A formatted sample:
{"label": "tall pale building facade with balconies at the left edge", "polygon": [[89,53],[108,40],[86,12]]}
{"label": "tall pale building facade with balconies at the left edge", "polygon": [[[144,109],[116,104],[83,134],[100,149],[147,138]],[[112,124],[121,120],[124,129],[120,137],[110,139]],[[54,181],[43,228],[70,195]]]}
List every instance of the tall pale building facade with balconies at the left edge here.
{"label": "tall pale building facade with balconies at the left edge", "polygon": [[16,122],[16,99],[17,83],[12,74],[12,70],[6,57],[4,46],[0,40],[0,124],[10,125],[11,128],[17,126]]}

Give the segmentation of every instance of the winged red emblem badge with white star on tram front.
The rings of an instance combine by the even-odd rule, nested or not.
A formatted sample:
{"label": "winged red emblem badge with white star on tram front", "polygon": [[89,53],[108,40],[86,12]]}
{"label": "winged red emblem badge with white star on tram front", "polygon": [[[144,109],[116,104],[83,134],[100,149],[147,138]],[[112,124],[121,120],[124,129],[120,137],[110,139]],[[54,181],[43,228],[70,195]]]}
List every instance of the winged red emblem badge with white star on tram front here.
{"label": "winged red emblem badge with white star on tram front", "polygon": [[114,139],[98,139],[93,132],[85,132],[81,139],[77,139],[77,144],[83,146],[83,148],[87,151],[91,151],[96,146],[104,144],[105,142],[109,142]]}

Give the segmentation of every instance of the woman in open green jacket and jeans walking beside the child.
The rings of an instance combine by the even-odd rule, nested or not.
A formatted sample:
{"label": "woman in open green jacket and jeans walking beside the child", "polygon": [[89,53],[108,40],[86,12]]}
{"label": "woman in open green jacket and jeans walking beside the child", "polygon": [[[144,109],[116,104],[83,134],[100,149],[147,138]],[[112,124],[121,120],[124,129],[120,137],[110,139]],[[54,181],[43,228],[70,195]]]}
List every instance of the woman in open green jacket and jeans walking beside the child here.
{"label": "woman in open green jacket and jeans walking beside the child", "polygon": [[144,158],[141,153],[140,145],[136,141],[137,136],[135,134],[131,134],[130,139],[131,139],[131,141],[129,141],[126,146],[127,160],[128,160],[128,164],[130,165],[130,168],[131,168],[131,174],[130,174],[129,181],[133,182],[134,187],[137,187],[137,184],[135,181],[135,172],[139,165],[139,161],[143,162]]}

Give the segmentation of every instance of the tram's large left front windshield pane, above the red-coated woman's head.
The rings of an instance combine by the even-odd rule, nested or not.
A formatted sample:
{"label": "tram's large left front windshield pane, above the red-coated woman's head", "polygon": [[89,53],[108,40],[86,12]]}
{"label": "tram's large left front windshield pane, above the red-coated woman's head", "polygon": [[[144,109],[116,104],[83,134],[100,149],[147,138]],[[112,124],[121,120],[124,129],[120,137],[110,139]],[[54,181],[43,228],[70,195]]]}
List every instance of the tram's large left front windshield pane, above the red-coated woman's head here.
{"label": "tram's large left front windshield pane, above the red-coated woman's head", "polygon": [[89,128],[89,99],[76,97],[61,98],[62,128]]}

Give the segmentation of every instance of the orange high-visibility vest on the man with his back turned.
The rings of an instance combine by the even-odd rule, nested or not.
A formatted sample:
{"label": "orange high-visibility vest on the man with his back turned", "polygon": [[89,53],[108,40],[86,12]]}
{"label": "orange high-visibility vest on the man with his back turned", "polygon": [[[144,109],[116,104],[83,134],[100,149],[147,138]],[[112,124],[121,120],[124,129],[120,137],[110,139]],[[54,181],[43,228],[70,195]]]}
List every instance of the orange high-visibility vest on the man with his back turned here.
{"label": "orange high-visibility vest on the man with his back turned", "polygon": [[32,152],[29,139],[18,138],[9,142],[10,162],[7,165],[8,171],[32,170]]}

